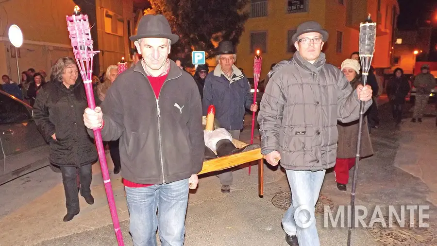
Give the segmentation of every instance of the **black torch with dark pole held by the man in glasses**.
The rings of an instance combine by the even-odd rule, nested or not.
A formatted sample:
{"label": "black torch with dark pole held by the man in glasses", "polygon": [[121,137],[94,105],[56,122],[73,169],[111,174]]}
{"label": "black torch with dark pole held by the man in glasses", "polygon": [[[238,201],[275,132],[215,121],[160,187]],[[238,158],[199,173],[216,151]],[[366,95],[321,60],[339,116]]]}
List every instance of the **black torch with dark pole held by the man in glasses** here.
{"label": "black torch with dark pole held by the man in glasses", "polygon": [[[360,24],[360,37],[359,37],[359,53],[361,60],[361,68],[363,70],[363,86],[366,86],[367,76],[369,75],[370,64],[372,62],[373,53],[375,52],[376,41],[376,23],[369,17],[365,22]],[[361,150],[361,132],[363,128],[364,119],[364,101],[360,103],[360,119],[358,123],[358,138],[356,143],[356,155],[355,155],[355,168],[353,170],[353,182],[351,190],[351,211],[352,211],[352,223],[355,215],[355,187],[358,175],[358,164],[360,163],[360,150]],[[367,126],[365,126],[367,127]],[[351,226],[348,230],[348,246],[351,246]]]}

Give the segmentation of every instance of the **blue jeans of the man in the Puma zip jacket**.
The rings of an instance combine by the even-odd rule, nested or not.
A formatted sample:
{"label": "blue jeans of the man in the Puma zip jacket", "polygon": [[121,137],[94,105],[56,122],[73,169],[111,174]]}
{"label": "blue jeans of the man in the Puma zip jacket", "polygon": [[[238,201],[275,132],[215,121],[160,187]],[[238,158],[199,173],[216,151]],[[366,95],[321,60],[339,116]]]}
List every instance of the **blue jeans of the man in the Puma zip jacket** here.
{"label": "blue jeans of the man in the Puma zip jacket", "polygon": [[188,179],[141,188],[126,187],[126,200],[134,246],[157,246],[158,227],[162,246],[184,245]]}

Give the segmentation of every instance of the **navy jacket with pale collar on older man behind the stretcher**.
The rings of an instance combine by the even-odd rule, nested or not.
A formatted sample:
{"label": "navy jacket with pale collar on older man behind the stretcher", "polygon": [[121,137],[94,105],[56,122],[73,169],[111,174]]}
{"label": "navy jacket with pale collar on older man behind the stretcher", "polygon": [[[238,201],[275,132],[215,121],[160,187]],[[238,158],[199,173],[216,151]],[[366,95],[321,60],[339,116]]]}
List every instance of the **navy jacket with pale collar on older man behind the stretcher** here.
{"label": "navy jacket with pale collar on older man behind the stretcher", "polygon": [[235,65],[233,69],[234,75],[229,81],[217,65],[205,78],[202,99],[203,115],[206,115],[209,105],[214,105],[215,118],[228,131],[243,129],[246,108],[250,109],[253,103],[249,81]]}

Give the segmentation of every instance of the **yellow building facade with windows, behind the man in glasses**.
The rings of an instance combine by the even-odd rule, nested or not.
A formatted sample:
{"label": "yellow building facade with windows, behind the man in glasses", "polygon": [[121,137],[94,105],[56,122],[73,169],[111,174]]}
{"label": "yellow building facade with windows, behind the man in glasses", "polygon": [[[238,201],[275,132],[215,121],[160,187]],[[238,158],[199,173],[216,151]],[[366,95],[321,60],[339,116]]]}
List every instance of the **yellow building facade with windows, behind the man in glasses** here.
{"label": "yellow building facade with windows, behind the man in glasses", "polygon": [[247,8],[251,18],[237,46],[237,66],[248,75],[252,73],[257,49],[263,57],[261,78],[272,63],[290,59],[296,51],[291,37],[297,26],[308,20],[318,21],[329,32],[323,52],[329,63],[340,66],[358,51],[359,25],[369,13],[377,22],[372,65],[391,67],[393,31],[399,15],[397,0],[251,0]]}

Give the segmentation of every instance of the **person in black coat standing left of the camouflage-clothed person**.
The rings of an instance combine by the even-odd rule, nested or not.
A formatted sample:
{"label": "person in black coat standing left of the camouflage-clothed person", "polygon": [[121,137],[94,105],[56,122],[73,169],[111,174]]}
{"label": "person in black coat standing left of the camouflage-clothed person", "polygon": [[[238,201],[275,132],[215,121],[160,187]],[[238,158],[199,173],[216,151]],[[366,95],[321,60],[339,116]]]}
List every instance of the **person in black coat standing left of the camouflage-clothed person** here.
{"label": "person in black coat standing left of the camouflage-clothed person", "polygon": [[405,104],[405,97],[410,91],[408,79],[403,75],[403,70],[397,68],[393,71],[393,77],[387,83],[387,95],[393,112],[393,119],[396,125],[402,121],[402,109]]}

